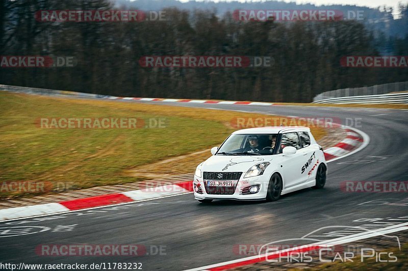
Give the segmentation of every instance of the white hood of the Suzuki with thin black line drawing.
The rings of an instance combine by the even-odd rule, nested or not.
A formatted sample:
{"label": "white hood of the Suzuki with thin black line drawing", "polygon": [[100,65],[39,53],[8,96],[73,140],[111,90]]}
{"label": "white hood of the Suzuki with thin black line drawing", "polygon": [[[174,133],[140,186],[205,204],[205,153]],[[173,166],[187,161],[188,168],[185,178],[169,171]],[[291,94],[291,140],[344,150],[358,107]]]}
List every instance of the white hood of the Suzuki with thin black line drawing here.
{"label": "white hood of the Suzuki with thin black line drawing", "polygon": [[252,166],[262,162],[269,162],[270,156],[235,156],[235,155],[213,155],[202,163],[201,171],[210,172],[246,172]]}

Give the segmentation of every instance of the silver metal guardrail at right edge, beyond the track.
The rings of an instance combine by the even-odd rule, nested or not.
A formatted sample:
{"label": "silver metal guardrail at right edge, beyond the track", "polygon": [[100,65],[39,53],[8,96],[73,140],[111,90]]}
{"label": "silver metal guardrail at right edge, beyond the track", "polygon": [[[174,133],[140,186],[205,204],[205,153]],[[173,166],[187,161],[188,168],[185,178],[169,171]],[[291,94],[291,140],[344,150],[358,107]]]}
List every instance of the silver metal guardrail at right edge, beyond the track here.
{"label": "silver metal guardrail at right edge, beyond the track", "polygon": [[331,98],[315,104],[408,104],[408,93]]}

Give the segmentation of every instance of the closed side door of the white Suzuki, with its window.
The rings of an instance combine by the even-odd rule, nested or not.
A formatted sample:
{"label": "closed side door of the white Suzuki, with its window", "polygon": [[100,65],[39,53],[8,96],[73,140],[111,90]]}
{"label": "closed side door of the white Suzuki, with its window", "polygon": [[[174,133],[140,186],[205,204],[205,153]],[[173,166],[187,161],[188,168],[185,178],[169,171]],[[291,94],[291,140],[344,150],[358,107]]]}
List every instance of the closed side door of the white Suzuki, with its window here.
{"label": "closed side door of the white Suzuki, with its window", "polygon": [[285,189],[287,189],[305,182],[307,174],[302,174],[301,172],[305,156],[301,151],[301,143],[296,132],[283,133],[280,144],[279,153],[281,154],[279,155],[282,155],[283,149],[287,146],[296,148],[295,154],[282,155],[282,163],[279,165],[283,173]]}

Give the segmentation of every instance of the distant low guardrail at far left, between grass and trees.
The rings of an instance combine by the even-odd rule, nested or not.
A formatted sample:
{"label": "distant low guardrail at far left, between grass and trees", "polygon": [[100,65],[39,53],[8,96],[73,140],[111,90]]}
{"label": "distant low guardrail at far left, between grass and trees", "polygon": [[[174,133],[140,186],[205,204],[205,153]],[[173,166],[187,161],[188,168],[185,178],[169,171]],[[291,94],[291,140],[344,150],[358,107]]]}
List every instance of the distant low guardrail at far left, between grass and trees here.
{"label": "distant low guardrail at far left, between grass and trees", "polygon": [[70,92],[70,91],[56,91],[54,89],[34,88],[14,85],[0,85],[0,91],[16,92],[16,93],[28,93],[28,94],[40,94],[50,96],[76,96],[87,98],[109,98],[112,96],[82,93],[82,92]]}

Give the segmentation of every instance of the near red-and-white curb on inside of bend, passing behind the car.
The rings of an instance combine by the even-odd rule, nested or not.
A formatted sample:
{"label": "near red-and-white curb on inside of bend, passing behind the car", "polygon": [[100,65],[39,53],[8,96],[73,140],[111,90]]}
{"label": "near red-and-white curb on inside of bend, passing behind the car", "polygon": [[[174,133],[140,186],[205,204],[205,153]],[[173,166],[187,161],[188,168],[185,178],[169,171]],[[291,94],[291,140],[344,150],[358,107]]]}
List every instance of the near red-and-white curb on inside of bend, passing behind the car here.
{"label": "near red-and-white curb on inside of bend, passing behind the car", "polygon": [[[363,149],[370,138],[364,132],[342,126],[347,137],[333,147],[324,150],[326,161],[333,162]],[[82,199],[73,199],[55,203],[46,203],[24,207],[0,209],[0,221],[25,217],[36,217],[64,212],[73,212],[101,206],[125,204],[134,201],[150,200],[193,192],[192,180],[172,185],[133,190],[121,193],[101,195]]]}

